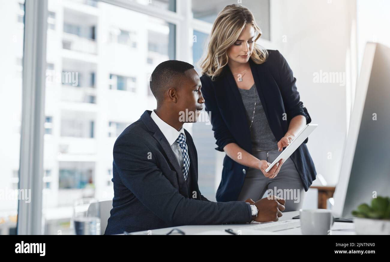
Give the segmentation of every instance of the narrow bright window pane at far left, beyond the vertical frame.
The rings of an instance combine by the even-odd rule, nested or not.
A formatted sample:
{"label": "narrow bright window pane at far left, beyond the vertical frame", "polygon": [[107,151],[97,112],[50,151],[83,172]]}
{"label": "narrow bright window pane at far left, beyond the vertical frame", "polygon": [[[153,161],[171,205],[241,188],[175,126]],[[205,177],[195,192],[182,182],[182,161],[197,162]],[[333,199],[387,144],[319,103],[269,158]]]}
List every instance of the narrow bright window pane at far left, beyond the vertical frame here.
{"label": "narrow bright window pane at far left, beyond the vertical frame", "polygon": [[5,192],[19,189],[20,137],[22,121],[22,72],[25,5],[23,0],[1,1],[2,48],[0,57],[0,235],[15,235],[18,221],[18,199]]}

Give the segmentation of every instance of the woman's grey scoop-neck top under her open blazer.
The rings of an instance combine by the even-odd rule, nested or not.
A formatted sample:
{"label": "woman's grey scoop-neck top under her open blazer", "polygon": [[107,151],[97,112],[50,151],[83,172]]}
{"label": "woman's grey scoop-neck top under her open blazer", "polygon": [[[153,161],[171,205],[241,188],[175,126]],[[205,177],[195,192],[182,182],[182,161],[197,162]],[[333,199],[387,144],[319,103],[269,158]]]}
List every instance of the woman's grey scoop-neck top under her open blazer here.
{"label": "woman's grey scoop-neck top under her open blazer", "polygon": [[278,141],[275,139],[271,128],[269,127],[264,108],[261,104],[259,94],[255,84],[249,90],[238,89],[243,99],[245,106],[246,117],[248,119],[248,126],[252,122],[253,109],[255,107],[256,94],[256,109],[253,117],[252,127],[250,127],[250,135],[252,138],[252,151],[270,151],[278,149]]}

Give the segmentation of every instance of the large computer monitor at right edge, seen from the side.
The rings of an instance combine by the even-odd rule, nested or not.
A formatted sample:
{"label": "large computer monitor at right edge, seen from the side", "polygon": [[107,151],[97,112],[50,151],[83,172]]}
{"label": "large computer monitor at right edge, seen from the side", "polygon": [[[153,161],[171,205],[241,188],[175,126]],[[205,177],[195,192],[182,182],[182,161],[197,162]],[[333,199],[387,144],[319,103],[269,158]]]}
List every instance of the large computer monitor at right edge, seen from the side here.
{"label": "large computer monitor at right edge, seen from the side", "polygon": [[390,195],[390,48],[367,43],[334,194],[333,214],[349,218],[374,194]]}

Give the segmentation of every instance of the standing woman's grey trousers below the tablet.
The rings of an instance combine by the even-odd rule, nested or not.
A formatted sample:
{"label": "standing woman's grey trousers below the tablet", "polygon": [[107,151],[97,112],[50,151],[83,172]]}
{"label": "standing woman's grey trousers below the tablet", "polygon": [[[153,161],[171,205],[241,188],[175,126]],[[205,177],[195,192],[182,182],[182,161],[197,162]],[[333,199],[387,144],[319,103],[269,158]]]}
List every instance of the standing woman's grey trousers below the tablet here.
{"label": "standing woman's grey trousers below the tablet", "polygon": [[[254,152],[254,156],[260,160],[266,160],[272,163],[280,154],[278,150]],[[275,195],[286,200],[285,210],[283,212],[296,211],[302,208],[305,189],[301,177],[295,168],[293,160],[288,158],[280,168],[275,178],[269,179],[255,168],[249,168],[246,172],[245,181],[238,201],[245,201],[252,198],[257,201],[264,196]]]}

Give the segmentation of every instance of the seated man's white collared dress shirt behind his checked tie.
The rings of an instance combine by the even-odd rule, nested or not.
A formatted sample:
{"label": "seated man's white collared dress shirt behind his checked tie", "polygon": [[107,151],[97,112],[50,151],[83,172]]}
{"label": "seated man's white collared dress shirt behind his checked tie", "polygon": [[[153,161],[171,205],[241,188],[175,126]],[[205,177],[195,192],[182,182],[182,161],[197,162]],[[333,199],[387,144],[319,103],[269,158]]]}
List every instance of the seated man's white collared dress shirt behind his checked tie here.
{"label": "seated man's white collared dress shirt behind his checked tie", "polygon": [[156,123],[158,128],[160,128],[165,138],[167,138],[167,141],[176,156],[177,162],[179,162],[180,168],[183,168],[183,154],[179,144],[176,142],[176,139],[179,137],[180,133],[183,133],[184,137],[186,137],[183,126],[181,127],[180,131],[177,131],[174,127],[168,125],[160,117],[158,117],[154,110],[152,111],[150,117]]}

